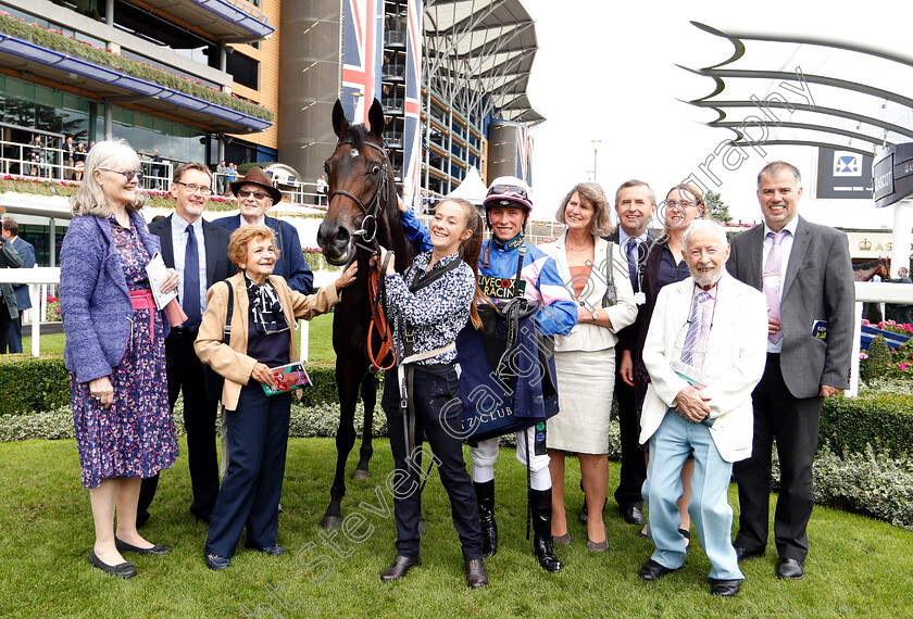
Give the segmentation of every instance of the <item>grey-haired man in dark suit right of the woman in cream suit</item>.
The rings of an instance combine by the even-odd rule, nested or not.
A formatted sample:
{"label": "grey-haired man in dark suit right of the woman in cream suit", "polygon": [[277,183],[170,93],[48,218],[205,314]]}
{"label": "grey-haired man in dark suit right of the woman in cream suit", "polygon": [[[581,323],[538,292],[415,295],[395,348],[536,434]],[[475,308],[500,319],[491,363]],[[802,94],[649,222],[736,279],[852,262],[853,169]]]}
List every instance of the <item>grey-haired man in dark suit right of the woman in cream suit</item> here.
{"label": "grey-haired man in dark suit right of the woman in cream suit", "polygon": [[[641,267],[647,248],[654,236],[647,225],[656,212],[656,197],[649,185],[631,179],[623,182],[615,191],[615,213],[618,227],[605,237],[606,241],[618,243],[624,260],[628,262],[630,285],[634,288],[638,308],[643,303]],[[622,517],[629,525],[643,525],[643,497],[641,487],[647,479],[647,464],[638,442],[637,409],[634,387],[621,374],[624,343],[634,334],[631,327],[618,332],[620,345],[615,346],[615,400],[618,402],[618,427],[622,442],[622,472],[615,502]],[[586,506],[586,504],[585,504]],[[584,520],[584,514],[580,515]]]}

